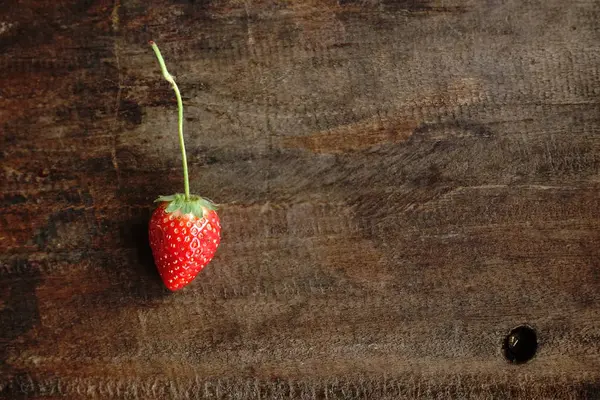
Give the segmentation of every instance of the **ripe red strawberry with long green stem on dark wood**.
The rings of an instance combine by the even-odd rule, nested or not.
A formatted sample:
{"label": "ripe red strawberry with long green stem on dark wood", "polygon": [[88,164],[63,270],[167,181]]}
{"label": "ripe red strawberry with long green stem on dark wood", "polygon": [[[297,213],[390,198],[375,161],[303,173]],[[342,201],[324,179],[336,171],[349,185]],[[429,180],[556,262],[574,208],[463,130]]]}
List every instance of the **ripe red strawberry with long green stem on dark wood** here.
{"label": "ripe red strawberry with long green stem on dark wood", "polygon": [[148,224],[150,247],[158,272],[168,289],[182,289],[212,260],[221,242],[221,222],[216,205],[190,194],[185,143],[183,102],[174,78],[169,74],[156,43],[150,42],[164,78],[171,84],[179,110],[179,144],[183,161],[185,193],[160,196],[160,204]]}

